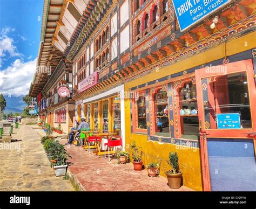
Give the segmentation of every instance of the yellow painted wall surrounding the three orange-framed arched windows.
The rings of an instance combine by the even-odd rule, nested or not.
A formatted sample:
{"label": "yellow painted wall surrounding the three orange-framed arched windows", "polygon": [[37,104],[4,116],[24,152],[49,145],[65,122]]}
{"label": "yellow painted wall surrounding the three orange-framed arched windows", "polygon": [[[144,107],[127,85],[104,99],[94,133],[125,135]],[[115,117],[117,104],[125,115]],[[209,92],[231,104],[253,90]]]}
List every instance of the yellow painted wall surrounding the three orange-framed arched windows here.
{"label": "yellow painted wall surrounding the three orange-framed arched windows", "polygon": [[[246,36],[237,38],[226,43],[226,55],[236,54],[242,51],[249,50],[256,47],[256,32],[247,34]],[[200,66],[225,57],[224,44],[217,45],[216,47],[204,53],[198,53],[192,58],[177,62],[171,66],[159,69],[159,72],[151,72],[146,76],[140,76],[138,79],[125,83],[125,92],[129,92],[129,88],[141,85],[143,83],[163,78],[173,73],[184,71],[186,69]],[[142,134],[131,134],[131,120],[130,120],[130,100],[125,99],[125,142],[126,149],[129,148],[127,144],[136,141],[137,145],[143,148],[143,161],[144,165],[150,161],[156,161],[162,158],[160,166],[160,175],[165,176],[165,171],[170,170],[169,164],[166,163],[170,151],[176,151],[179,155],[180,169],[183,171],[184,185],[193,190],[203,190],[202,176],[201,176],[201,162],[200,162],[200,149],[181,149],[186,148],[169,143],[159,143],[147,141],[147,136]],[[177,149],[178,148],[178,149]],[[167,183],[167,179],[166,179]]]}

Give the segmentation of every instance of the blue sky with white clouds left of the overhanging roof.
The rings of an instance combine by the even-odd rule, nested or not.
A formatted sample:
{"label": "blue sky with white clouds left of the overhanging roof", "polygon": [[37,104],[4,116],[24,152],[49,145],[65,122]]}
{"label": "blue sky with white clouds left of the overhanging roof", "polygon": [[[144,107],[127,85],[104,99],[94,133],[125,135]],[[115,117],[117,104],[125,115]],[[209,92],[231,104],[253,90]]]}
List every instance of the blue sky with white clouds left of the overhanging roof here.
{"label": "blue sky with white clouds left of the overhanging roof", "polygon": [[4,94],[9,107],[14,105],[13,97],[17,97],[23,110],[22,97],[29,93],[36,70],[43,3],[43,0],[0,3],[0,94]]}

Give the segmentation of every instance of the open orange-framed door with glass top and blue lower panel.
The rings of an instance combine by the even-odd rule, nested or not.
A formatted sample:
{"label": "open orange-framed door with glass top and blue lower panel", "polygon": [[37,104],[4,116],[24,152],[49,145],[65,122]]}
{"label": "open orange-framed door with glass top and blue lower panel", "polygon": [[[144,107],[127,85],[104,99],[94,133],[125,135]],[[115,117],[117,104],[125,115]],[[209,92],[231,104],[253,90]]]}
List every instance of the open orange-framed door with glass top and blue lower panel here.
{"label": "open orange-framed door with glass top and blue lower panel", "polygon": [[252,60],[196,70],[204,191],[255,191]]}

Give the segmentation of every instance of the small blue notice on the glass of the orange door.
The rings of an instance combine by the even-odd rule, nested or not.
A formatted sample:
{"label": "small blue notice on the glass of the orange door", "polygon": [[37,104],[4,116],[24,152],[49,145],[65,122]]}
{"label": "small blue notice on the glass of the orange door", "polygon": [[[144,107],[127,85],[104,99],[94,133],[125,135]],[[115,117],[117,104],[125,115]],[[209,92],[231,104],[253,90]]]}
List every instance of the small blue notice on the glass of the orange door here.
{"label": "small blue notice on the glass of the orange door", "polygon": [[240,114],[227,113],[217,114],[218,129],[240,129]]}

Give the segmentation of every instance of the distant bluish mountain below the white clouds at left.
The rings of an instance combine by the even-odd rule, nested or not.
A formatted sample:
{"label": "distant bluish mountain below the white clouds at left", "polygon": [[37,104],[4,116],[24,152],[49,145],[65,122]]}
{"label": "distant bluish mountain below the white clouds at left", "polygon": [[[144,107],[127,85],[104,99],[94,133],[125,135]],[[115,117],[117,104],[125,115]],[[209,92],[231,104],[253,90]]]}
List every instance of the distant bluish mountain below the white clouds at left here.
{"label": "distant bluish mountain below the white clouds at left", "polygon": [[4,96],[6,100],[6,107],[4,112],[12,112],[12,113],[21,113],[23,112],[24,107],[26,107],[26,103],[22,100],[23,96]]}

